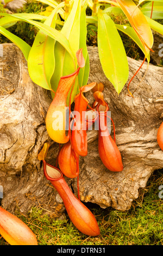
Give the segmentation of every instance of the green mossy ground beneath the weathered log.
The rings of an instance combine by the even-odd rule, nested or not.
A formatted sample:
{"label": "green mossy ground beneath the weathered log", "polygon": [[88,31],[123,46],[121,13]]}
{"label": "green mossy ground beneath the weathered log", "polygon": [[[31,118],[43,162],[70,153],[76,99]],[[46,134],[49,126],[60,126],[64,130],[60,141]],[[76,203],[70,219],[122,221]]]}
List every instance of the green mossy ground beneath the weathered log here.
{"label": "green mossy ground beneath the weathered log", "polygon": [[[128,211],[86,204],[101,229],[97,237],[80,233],[68,216],[56,221],[42,215],[40,208],[33,208],[27,216],[17,212],[17,216],[33,230],[39,245],[163,245],[163,192],[159,190],[163,185],[162,172],[153,173]],[[0,245],[8,243],[1,237]]]}

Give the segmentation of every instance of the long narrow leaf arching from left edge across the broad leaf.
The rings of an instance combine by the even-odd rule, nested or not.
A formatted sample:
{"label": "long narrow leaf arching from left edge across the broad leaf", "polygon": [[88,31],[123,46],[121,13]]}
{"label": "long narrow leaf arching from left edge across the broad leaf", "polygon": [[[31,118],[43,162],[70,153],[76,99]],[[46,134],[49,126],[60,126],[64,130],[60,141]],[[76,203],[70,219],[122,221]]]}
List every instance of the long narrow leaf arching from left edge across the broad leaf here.
{"label": "long narrow leaf arching from left edge across the broad leaf", "polygon": [[67,50],[67,52],[70,54],[71,58],[74,59],[74,53],[71,50],[70,44],[66,38],[66,36],[62,33],[60,33],[59,31],[57,31],[57,29],[54,29],[52,27],[47,26],[44,23],[40,23],[34,20],[29,20],[29,19],[25,19],[23,17],[19,17],[16,14],[5,14],[5,13],[0,13],[0,15],[2,16],[11,16],[11,17],[16,17],[17,19],[21,20],[21,21],[25,21],[28,22],[34,26],[36,26],[37,28],[39,28],[43,33],[47,34],[48,36],[50,36],[51,38],[57,40],[60,42],[60,44]]}

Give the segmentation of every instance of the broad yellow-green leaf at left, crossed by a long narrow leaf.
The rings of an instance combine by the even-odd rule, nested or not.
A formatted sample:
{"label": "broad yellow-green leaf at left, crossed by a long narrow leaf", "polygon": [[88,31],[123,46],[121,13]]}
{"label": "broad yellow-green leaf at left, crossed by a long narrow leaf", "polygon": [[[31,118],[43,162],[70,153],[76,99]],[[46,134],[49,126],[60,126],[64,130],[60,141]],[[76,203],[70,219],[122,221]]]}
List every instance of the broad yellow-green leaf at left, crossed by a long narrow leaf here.
{"label": "broad yellow-green leaf at left, crossed by a long narrow leaf", "polygon": [[[57,14],[54,10],[45,24],[54,28],[56,18]],[[50,81],[55,67],[54,45],[55,40],[53,38],[39,31],[28,57],[30,78],[34,83],[48,90],[51,89]]]}

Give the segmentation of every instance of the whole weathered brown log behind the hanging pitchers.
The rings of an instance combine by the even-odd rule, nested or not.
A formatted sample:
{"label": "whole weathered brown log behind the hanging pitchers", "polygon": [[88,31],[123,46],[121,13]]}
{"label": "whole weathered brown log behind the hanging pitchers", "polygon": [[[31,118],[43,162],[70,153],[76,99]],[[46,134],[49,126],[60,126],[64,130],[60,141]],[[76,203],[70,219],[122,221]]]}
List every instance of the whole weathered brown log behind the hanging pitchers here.
{"label": "whole weathered brown log behind the hanging pitchers", "polygon": [[[115,123],[116,143],[124,169],[121,173],[113,173],[104,167],[98,155],[98,131],[88,131],[88,154],[80,157],[80,198],[102,208],[112,206],[117,210],[128,210],[153,171],[163,168],[163,152],[156,142],[156,132],[162,122],[162,68],[149,65],[134,98],[127,95],[127,84],[118,95],[103,73],[97,48],[88,49],[89,82],[102,82],[105,86],[104,97]],[[2,205],[10,212],[14,212],[16,206],[27,212],[31,206],[39,205],[53,216],[61,216],[64,205],[57,191],[43,177],[42,164],[37,160],[46,141],[52,144],[47,162],[55,164],[58,153],[58,144],[49,139],[45,126],[51,96],[30,80],[27,62],[15,45],[4,44],[3,53],[0,58]],[[128,62],[130,80],[141,61],[128,58]],[[147,64],[143,65],[130,84],[131,92],[141,81],[146,67]],[[91,104],[92,93],[86,96]],[[77,194],[77,178],[66,178],[66,181]]]}

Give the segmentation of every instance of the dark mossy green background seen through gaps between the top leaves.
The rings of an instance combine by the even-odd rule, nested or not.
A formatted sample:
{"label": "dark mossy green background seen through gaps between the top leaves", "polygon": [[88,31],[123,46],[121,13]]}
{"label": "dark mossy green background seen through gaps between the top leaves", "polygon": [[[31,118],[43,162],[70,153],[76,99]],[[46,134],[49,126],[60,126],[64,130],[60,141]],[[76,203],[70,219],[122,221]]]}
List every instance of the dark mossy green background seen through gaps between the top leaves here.
{"label": "dark mossy green background seen through gaps between the top leaves", "polygon": [[[46,10],[46,7],[48,5],[34,2],[32,0],[28,0],[26,4],[24,4],[23,8],[20,10],[17,10],[17,13],[35,13],[39,14]],[[6,9],[3,8],[3,4],[0,4],[0,11],[1,13],[5,13]],[[86,10],[87,15],[91,15],[91,9],[88,7]],[[112,20],[116,24],[128,24],[129,22],[126,19],[125,15],[119,14],[118,16],[111,15]],[[27,42],[30,46],[32,46],[33,41],[35,39],[35,35],[38,32],[38,29],[35,28],[33,25],[30,25],[27,22],[18,21],[16,24],[8,30],[20,37],[22,40]],[[140,50],[140,48],[135,44],[133,40],[129,38],[129,36],[125,35],[122,32],[119,32],[120,36],[122,38],[124,48],[126,50],[127,56],[134,58],[136,60],[140,59],[143,54]],[[5,36],[0,34],[0,44],[3,44],[3,42],[10,42]],[[88,46],[97,46],[97,27],[90,25],[87,26],[87,45]]]}

